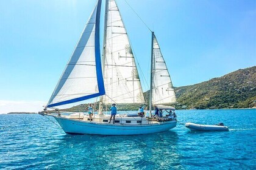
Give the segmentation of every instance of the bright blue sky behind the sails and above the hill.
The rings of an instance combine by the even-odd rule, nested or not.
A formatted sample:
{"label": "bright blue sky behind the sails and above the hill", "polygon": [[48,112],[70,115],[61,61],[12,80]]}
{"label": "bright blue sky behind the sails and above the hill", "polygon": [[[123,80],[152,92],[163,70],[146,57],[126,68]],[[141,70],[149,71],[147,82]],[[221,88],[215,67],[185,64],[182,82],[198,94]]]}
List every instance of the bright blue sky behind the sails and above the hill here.
{"label": "bright blue sky behind the sails and above the hill", "polygon": [[[146,91],[151,32],[124,0],[116,1]],[[126,1],[154,30],[176,87],[256,65],[254,0]],[[95,4],[0,0],[0,114],[47,104]]]}

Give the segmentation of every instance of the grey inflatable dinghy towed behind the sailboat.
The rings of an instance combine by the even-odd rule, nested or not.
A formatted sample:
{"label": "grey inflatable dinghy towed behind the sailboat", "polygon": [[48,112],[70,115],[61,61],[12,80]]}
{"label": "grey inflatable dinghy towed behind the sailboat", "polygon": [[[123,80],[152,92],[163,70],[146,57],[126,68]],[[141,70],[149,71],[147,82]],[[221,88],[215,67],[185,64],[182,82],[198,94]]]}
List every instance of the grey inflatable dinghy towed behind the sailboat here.
{"label": "grey inflatable dinghy towed behind the sailboat", "polygon": [[229,131],[229,127],[224,126],[223,123],[216,125],[186,123],[185,126],[191,131]]}

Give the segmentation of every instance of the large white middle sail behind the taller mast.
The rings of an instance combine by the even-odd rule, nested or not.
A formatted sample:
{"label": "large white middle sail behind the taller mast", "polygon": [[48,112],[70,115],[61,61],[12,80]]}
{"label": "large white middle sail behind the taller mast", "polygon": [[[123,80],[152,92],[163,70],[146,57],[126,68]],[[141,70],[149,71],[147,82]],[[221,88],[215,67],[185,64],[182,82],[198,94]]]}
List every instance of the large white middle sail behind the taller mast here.
{"label": "large white middle sail behind the taller mast", "polygon": [[144,103],[132,48],[115,0],[106,4],[104,103]]}

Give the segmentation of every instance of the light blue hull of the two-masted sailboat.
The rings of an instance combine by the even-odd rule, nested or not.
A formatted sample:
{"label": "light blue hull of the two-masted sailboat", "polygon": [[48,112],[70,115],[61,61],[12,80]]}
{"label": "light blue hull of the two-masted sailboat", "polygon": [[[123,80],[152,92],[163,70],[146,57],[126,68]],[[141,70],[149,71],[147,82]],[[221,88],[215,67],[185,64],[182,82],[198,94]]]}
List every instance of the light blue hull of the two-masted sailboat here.
{"label": "light blue hull of the two-masted sailboat", "polygon": [[54,117],[67,134],[91,135],[139,135],[169,131],[176,127],[177,121],[165,121],[154,124],[123,125],[95,123],[69,118]]}

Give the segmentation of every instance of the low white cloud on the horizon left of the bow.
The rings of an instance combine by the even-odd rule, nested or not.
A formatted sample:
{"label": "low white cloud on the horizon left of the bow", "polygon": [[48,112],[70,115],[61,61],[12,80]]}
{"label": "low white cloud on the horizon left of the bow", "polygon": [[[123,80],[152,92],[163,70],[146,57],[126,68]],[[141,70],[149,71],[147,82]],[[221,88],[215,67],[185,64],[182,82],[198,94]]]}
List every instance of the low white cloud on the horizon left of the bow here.
{"label": "low white cloud on the horizon left of the bow", "polygon": [[0,114],[9,112],[38,112],[43,110],[43,101],[10,101],[0,100]]}

